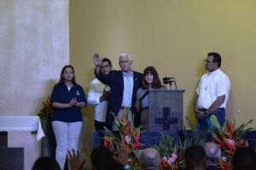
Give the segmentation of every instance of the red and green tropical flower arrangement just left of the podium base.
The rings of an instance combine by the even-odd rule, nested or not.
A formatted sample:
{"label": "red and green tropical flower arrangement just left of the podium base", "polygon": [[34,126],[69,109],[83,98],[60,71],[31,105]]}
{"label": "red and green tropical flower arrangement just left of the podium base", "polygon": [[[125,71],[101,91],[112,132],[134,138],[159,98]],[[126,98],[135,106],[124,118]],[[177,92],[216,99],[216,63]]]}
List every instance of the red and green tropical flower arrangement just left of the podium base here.
{"label": "red and green tropical flower arrangement just left of the podium base", "polygon": [[119,144],[125,144],[125,147],[130,151],[129,155],[129,165],[132,170],[140,169],[139,162],[139,149],[144,145],[139,142],[141,132],[141,127],[134,127],[133,118],[130,122],[128,120],[129,109],[125,108],[124,115],[119,119],[113,114],[115,122],[118,126],[119,135],[115,135],[113,132],[104,127],[109,136],[103,138],[103,144],[105,147],[114,150]]}

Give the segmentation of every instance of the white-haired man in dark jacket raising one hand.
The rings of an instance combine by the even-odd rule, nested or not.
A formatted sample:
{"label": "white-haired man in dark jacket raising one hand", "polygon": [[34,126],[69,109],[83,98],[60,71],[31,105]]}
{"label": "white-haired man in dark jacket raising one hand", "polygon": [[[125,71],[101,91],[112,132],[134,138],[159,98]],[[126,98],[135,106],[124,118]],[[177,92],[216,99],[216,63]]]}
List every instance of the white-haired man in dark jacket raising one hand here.
{"label": "white-haired man in dark jacket raising one hand", "polygon": [[118,130],[112,113],[119,119],[129,109],[128,119],[131,121],[134,116],[134,125],[140,125],[140,115],[135,109],[137,89],[141,88],[143,74],[131,69],[132,59],[129,54],[119,56],[119,66],[121,71],[112,70],[107,74],[101,71],[102,59],[98,54],[93,56],[95,64],[96,78],[111,88],[110,99],[108,102],[108,113],[106,122],[108,126],[112,125],[112,130]]}

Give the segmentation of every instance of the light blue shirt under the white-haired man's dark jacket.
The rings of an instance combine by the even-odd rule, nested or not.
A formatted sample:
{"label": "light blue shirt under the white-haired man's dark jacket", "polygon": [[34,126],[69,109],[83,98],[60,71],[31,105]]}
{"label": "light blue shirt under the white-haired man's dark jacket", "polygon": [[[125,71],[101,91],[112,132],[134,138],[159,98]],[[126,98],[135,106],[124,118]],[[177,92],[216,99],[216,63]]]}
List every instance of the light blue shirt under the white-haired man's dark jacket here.
{"label": "light blue shirt under the white-haired man's dark jacket", "polygon": [[124,78],[124,92],[122,106],[131,107],[132,89],[133,89],[133,71],[130,75],[127,75],[123,71]]}

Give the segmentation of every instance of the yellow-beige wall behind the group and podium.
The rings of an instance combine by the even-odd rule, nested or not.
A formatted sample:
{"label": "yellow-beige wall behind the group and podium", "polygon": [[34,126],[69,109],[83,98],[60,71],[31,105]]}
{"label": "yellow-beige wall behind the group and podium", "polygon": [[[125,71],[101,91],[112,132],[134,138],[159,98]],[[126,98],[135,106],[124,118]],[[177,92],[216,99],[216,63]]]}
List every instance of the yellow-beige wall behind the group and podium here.
{"label": "yellow-beige wall behind the group and podium", "polygon": [[[241,124],[256,118],[255,7],[254,0],[70,1],[70,61],[87,92],[94,78],[93,54],[109,57],[119,69],[119,54],[129,53],[134,70],[154,65],[160,77],[176,78],[177,88],[186,90],[184,116],[195,120],[193,99],[205,73],[203,60],[207,52],[216,51],[231,82],[227,116],[233,119],[241,111]],[[91,106],[84,116],[88,151]],[[256,127],[256,121],[250,126]]]}

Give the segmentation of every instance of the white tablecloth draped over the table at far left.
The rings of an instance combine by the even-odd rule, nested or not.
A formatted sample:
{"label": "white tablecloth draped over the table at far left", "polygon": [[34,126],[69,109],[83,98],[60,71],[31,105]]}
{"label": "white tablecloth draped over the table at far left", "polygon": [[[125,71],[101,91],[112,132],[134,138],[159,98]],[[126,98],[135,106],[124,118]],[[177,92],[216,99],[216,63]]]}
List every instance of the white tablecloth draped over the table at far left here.
{"label": "white tablecloth draped over the table at far left", "polygon": [[38,116],[0,116],[0,132],[37,132],[37,139],[44,137]]}

